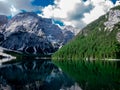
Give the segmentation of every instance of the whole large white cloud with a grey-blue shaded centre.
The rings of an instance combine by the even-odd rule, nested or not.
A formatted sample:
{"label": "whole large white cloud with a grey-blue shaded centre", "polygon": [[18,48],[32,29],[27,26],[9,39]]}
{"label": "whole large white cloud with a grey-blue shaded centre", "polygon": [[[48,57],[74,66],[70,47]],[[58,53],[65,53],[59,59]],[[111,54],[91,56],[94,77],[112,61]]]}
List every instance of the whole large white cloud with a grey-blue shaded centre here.
{"label": "whole large white cloud with a grey-blue shaded centre", "polygon": [[111,0],[55,0],[54,3],[42,9],[42,16],[76,28],[83,28],[114,6]]}

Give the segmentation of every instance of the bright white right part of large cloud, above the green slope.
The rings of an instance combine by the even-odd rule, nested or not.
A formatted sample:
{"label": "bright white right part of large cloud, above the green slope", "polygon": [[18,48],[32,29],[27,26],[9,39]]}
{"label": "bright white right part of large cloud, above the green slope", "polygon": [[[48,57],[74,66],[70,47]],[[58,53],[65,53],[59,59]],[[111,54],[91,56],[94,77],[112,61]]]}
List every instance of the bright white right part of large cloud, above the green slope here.
{"label": "bright white right part of large cloud, above the green slope", "polygon": [[86,24],[94,21],[101,15],[104,15],[109,11],[114,5],[110,0],[91,0],[91,3],[95,6],[94,9],[90,11],[90,13],[85,13],[84,18],[82,19]]}

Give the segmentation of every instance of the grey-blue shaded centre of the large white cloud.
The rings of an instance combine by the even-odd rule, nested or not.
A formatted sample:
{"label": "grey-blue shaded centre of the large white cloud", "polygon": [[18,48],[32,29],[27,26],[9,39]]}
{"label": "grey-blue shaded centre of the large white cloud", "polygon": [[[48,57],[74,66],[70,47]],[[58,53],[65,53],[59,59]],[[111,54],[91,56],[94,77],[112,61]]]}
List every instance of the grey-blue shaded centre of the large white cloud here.
{"label": "grey-blue shaded centre of the large white cloud", "polygon": [[92,3],[89,3],[88,5],[84,2],[77,3],[74,10],[67,13],[68,20],[72,21],[75,27],[83,28],[86,23],[82,20],[82,18],[84,18],[85,13],[90,13],[93,8],[94,6]]}

